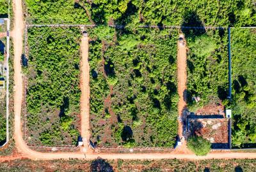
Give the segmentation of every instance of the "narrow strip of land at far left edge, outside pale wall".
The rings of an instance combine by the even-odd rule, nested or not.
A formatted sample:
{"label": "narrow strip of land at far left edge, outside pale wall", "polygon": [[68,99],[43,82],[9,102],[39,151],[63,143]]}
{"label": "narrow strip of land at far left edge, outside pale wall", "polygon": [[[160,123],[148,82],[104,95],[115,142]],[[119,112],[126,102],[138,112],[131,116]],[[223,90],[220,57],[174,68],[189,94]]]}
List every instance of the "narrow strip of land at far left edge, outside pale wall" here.
{"label": "narrow strip of land at far left edge, outside pale wall", "polygon": [[0,25],[0,146],[6,141],[6,21]]}

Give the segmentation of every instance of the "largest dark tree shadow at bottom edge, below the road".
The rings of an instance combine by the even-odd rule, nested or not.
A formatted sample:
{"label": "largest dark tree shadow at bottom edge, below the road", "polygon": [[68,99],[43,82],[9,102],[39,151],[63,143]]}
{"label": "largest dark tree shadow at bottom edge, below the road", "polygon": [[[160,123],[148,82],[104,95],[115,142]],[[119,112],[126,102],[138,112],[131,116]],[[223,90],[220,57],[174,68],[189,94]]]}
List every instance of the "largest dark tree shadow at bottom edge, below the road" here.
{"label": "largest dark tree shadow at bottom edge, below the road", "polygon": [[94,160],[90,167],[92,172],[112,172],[113,167],[106,162],[104,159],[98,157],[96,160]]}

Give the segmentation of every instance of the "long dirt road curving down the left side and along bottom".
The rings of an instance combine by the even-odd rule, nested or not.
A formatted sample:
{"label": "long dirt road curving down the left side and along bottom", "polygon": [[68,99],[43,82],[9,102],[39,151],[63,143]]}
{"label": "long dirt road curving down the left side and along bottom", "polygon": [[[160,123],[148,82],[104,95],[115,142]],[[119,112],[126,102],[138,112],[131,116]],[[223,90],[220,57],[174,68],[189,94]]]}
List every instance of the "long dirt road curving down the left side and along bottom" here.
{"label": "long dirt road curving down the left side and along bottom", "polygon": [[[15,115],[15,144],[17,150],[21,153],[20,157],[28,157],[34,160],[51,160],[51,159],[97,159],[97,157],[102,157],[102,159],[256,159],[255,153],[234,153],[234,152],[212,152],[206,156],[198,157],[194,154],[173,154],[170,153],[148,153],[148,154],[84,154],[82,152],[78,153],[42,153],[31,150],[22,138],[22,125],[21,125],[21,104],[22,104],[22,73],[20,57],[22,55],[22,33],[24,29],[24,22],[22,20],[22,0],[13,0],[13,11],[14,11],[14,32],[13,32],[13,46],[14,46],[14,115]],[[12,159],[11,157],[0,157],[0,161],[5,161],[6,159]]]}

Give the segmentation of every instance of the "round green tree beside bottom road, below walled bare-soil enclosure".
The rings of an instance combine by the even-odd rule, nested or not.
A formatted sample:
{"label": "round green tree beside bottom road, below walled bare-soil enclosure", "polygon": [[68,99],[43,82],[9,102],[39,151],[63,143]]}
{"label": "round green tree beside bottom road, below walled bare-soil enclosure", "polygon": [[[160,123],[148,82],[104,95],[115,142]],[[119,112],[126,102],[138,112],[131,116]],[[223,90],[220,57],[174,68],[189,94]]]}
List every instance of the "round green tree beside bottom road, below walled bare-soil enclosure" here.
{"label": "round green tree beside bottom road, below walled bare-soil enclosure", "polygon": [[188,138],[188,148],[198,156],[207,155],[211,150],[211,143],[201,136],[191,136]]}

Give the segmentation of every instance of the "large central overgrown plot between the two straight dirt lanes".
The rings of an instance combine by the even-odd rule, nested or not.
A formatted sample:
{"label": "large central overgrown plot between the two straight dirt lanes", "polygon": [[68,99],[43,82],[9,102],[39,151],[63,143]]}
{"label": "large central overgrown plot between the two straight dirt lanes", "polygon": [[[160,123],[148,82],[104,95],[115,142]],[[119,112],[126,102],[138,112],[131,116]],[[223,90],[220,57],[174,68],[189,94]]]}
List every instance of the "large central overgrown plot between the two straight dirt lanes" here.
{"label": "large central overgrown plot between the two straight dirt lanes", "polygon": [[170,147],[177,135],[177,29],[89,31],[90,120],[99,147]]}

